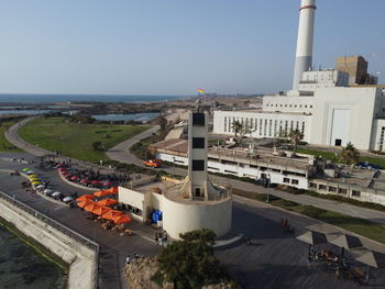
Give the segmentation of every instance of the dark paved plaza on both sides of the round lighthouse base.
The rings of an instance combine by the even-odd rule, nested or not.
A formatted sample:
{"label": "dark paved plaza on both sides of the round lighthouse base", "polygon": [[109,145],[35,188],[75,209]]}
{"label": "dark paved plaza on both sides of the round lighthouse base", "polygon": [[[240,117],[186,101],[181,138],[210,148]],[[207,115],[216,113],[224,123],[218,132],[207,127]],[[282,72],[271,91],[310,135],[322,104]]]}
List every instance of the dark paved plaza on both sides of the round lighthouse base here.
{"label": "dark paved plaza on both sides of the round lighthouse base", "polygon": [[[25,166],[33,168],[37,175],[51,179],[52,186],[70,194],[89,192],[75,188],[64,182],[56,169],[41,170],[34,168],[37,158],[18,154],[34,160],[32,165],[24,165],[11,162],[9,154],[0,154],[0,169],[21,169]],[[99,222],[86,219],[85,213],[78,209],[69,209],[65,205],[52,203],[36,194],[31,194],[22,189],[23,177],[0,174],[2,191],[10,194],[15,193],[16,198],[26,204],[41,210],[51,218],[95,240],[101,246],[100,254],[100,277],[101,288],[127,288],[122,281],[122,269],[128,254],[138,253],[144,256],[158,254],[161,247],[155,246],[153,240],[154,230],[133,221],[130,227],[136,233],[134,236],[120,236],[114,231],[105,231]],[[229,266],[232,275],[244,286],[244,288],[351,288],[359,287],[349,280],[338,280],[332,273],[324,273],[317,264],[307,267],[308,245],[297,241],[294,234],[283,232],[278,225],[280,218],[287,218],[289,223],[297,231],[305,227],[315,227],[327,233],[339,232],[331,225],[322,224],[312,219],[286,212],[266,203],[251,201],[241,197],[234,197],[233,225],[229,238],[243,234],[252,238],[253,244],[246,245],[243,242],[230,244],[228,247],[218,249],[217,256],[222,263]],[[385,252],[383,245],[363,240],[364,245]],[[338,253],[338,248],[334,248]],[[382,288],[385,286],[385,270],[372,270],[371,284],[365,288]]]}

